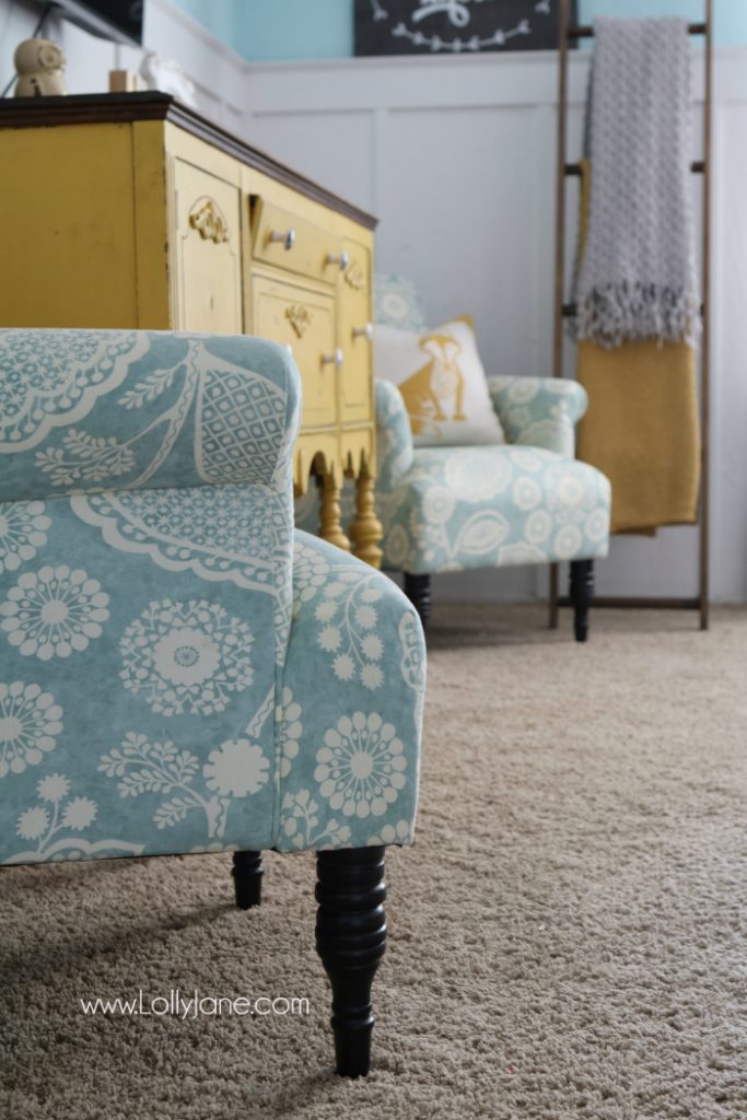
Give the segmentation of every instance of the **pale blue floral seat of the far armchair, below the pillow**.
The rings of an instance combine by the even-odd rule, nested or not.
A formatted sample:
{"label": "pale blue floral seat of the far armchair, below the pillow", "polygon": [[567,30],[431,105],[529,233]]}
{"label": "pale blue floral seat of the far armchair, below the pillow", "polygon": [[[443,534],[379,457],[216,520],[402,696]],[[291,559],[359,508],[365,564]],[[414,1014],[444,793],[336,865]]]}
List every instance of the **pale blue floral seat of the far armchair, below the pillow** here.
{"label": "pale blue floral seat of the far armchair, below the pillow", "polygon": [[384,566],[424,575],[607,554],[611,492],[596,468],[511,445],[418,448],[377,494]]}

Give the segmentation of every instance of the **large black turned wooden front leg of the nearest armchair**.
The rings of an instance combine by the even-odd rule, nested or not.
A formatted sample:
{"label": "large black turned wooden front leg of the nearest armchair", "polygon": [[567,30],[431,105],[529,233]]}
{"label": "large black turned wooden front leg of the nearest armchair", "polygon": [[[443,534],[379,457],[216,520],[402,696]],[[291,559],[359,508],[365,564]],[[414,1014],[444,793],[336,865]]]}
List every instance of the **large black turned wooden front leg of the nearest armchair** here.
{"label": "large black turned wooden front leg of the nearest armchair", "polygon": [[317,952],[332,984],[337,1073],[361,1077],[371,1064],[371,984],[386,946],[383,848],[317,855]]}

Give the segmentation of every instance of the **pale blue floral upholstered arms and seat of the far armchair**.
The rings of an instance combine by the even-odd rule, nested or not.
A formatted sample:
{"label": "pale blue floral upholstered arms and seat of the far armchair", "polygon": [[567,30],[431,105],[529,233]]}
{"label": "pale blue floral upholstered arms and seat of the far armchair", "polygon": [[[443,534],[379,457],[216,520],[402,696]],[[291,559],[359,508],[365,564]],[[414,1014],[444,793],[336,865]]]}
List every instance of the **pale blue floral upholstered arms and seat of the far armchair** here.
{"label": "pale blue floral upholstered arms and seat of the far armchair", "polygon": [[[607,554],[609,482],[573,458],[583,389],[547,377],[488,385],[507,444],[413,448],[400,391],[376,383],[385,568],[431,575]],[[348,503],[345,494],[344,513]],[[297,503],[298,524],[314,517],[310,500]]]}

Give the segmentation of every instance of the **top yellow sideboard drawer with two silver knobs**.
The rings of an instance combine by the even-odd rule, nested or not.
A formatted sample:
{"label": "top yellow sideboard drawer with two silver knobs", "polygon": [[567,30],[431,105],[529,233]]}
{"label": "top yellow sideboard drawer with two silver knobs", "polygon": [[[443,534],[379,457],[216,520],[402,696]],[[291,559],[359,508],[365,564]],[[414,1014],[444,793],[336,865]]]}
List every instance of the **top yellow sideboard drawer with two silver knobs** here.
{"label": "top yellow sideboard drawer with two silver knobs", "polygon": [[324,283],[337,282],[343,253],[338,234],[259,197],[252,204],[252,231],[253,260]]}

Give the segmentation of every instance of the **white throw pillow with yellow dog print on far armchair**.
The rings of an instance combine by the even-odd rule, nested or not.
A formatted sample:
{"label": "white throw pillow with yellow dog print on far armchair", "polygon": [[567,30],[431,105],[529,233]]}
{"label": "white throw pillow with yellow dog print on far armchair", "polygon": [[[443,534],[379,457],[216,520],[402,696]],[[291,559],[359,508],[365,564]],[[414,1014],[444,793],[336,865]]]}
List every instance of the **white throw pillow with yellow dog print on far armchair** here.
{"label": "white throw pillow with yellow dog print on far armchair", "polygon": [[423,334],[376,326],[374,373],[402,393],[417,447],[505,442],[468,316]]}

